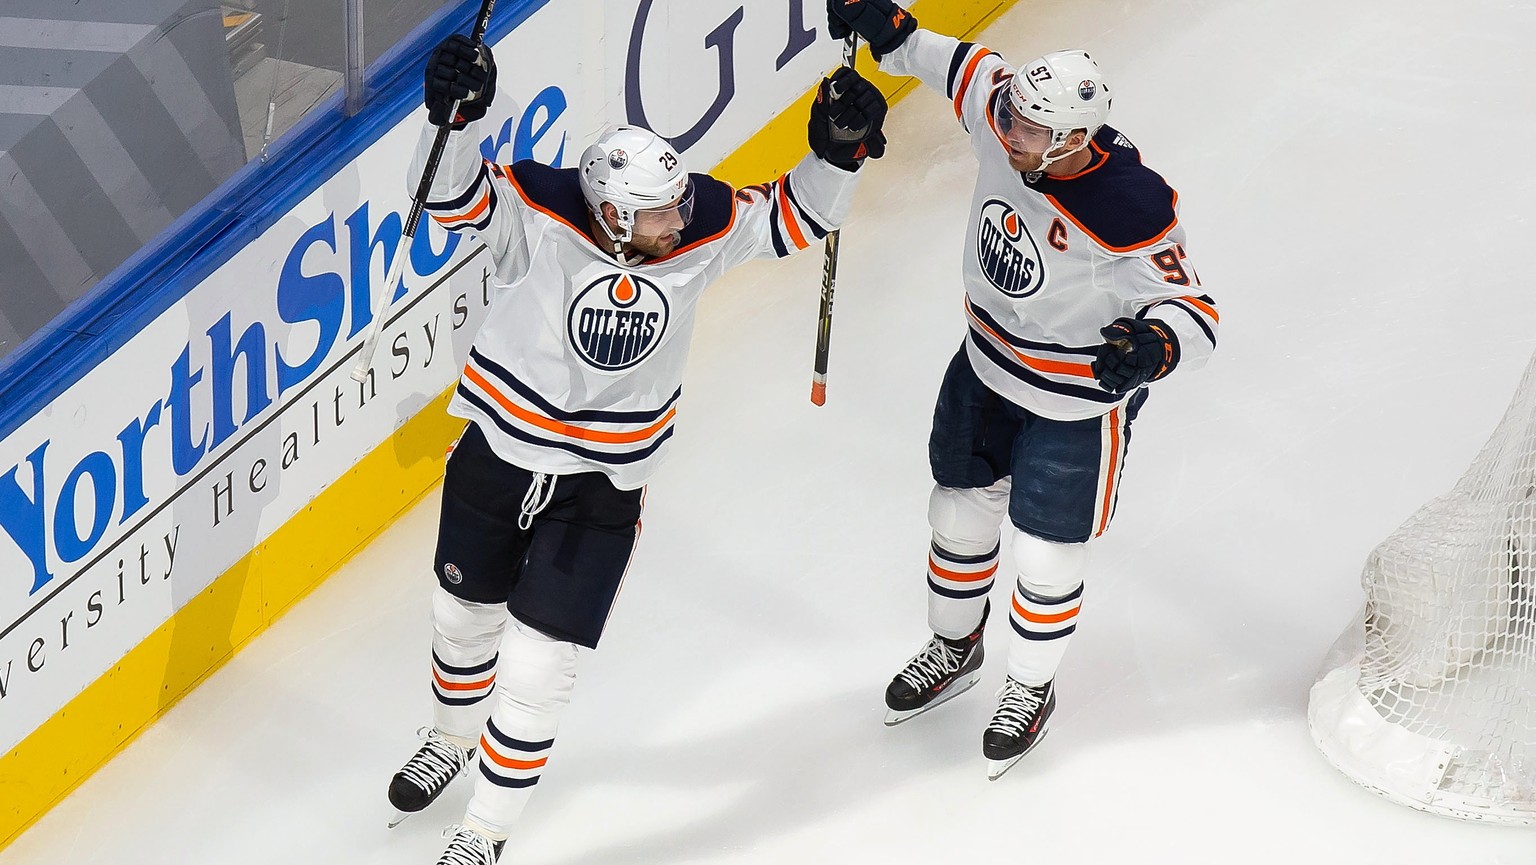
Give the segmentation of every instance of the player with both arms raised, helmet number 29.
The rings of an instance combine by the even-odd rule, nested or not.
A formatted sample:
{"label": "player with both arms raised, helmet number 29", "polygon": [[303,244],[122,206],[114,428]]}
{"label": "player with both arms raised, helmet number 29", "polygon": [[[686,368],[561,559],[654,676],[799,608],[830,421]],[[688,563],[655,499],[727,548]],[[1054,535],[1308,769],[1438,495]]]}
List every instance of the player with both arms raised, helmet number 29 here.
{"label": "player with both arms raised, helmet number 29", "polygon": [[425,81],[430,121],[458,129],[425,210],[485,243],[499,287],[449,406],[470,423],[442,489],[433,725],[389,790],[402,814],[419,811],[475,765],[442,865],[495,862],[544,771],[578,647],[598,645],[639,538],[705,286],[837,227],[859,166],[885,152],[885,98],[839,71],[811,108],[813,154],[771,183],[688,174],[665,140],[628,126],[576,167],[492,164],[475,121],[495,74],[488,49],[450,37]]}

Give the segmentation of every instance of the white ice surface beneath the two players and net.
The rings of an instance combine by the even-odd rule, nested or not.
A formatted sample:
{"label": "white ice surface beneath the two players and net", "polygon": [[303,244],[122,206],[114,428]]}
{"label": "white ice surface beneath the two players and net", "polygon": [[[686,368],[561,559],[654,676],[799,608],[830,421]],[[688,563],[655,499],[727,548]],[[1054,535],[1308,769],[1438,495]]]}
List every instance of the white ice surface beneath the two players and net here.
{"label": "white ice surface beneath the two players and net", "polygon": [[[1536,863],[1536,831],[1355,787],[1304,719],[1366,553],[1456,479],[1536,350],[1536,5],[1025,0],[983,41],[1101,61],[1223,313],[1210,367],[1135,427],[1051,739],[986,780],[1006,627],[982,687],[880,724],[926,636],[925,446],[974,177],[922,92],[843,235],[826,407],[817,252],[707,298],[637,559],[504,860]],[[393,831],[384,787],[429,718],[436,504],[0,865],[430,865],[468,785]]]}

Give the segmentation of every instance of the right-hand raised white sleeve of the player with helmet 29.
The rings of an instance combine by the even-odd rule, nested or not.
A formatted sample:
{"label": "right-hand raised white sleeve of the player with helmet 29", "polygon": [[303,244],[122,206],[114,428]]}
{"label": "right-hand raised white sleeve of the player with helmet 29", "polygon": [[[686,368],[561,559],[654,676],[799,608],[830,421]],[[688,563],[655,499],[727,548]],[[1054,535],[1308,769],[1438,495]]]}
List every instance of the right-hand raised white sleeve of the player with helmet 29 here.
{"label": "right-hand raised white sleeve of the player with helmet 29", "polygon": [[723,266],[734,267],[751,258],[793,255],[848,217],[859,172],[848,172],[814,154],[779,175],[736,191],[736,218],[727,237]]}

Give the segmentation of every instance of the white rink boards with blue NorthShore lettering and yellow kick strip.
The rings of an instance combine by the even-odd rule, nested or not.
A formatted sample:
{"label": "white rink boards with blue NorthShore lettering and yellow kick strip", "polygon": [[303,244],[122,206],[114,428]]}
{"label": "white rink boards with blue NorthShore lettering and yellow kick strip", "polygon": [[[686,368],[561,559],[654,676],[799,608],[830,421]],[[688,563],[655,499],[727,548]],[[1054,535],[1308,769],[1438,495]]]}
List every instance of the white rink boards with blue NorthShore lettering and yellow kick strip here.
{"label": "white rink boards with blue NorthShore lettering and yellow kick strip", "polygon": [[[965,34],[1011,3],[915,12]],[[461,427],[447,389],[490,301],[484,249],[418,232],[373,376],[349,370],[409,209],[421,58],[476,6],[452,3],[382,57],[362,114],[343,117],[339,97],[313,112],[14,355],[0,845],[441,478]],[[502,0],[482,152],[570,166],[628,120],[696,171],[771,180],[805,152],[809,91],[840,55],[820,17],[813,0]]]}

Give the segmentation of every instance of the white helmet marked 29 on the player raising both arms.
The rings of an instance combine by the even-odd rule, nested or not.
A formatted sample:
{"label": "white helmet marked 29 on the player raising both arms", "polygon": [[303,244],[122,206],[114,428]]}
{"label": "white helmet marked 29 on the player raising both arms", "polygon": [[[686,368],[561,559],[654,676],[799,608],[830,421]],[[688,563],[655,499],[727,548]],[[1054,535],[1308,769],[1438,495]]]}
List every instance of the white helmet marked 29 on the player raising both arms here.
{"label": "white helmet marked 29 on the player raising both arms", "polygon": [[[670,217],[676,210],[684,226],[693,218],[693,180],[688,169],[677,151],[650,129],[608,129],[582,152],[579,174],[582,197],[614,243],[616,252],[634,237],[637,214],[665,212]],[[617,230],[602,218],[604,203],[617,210]]]}

